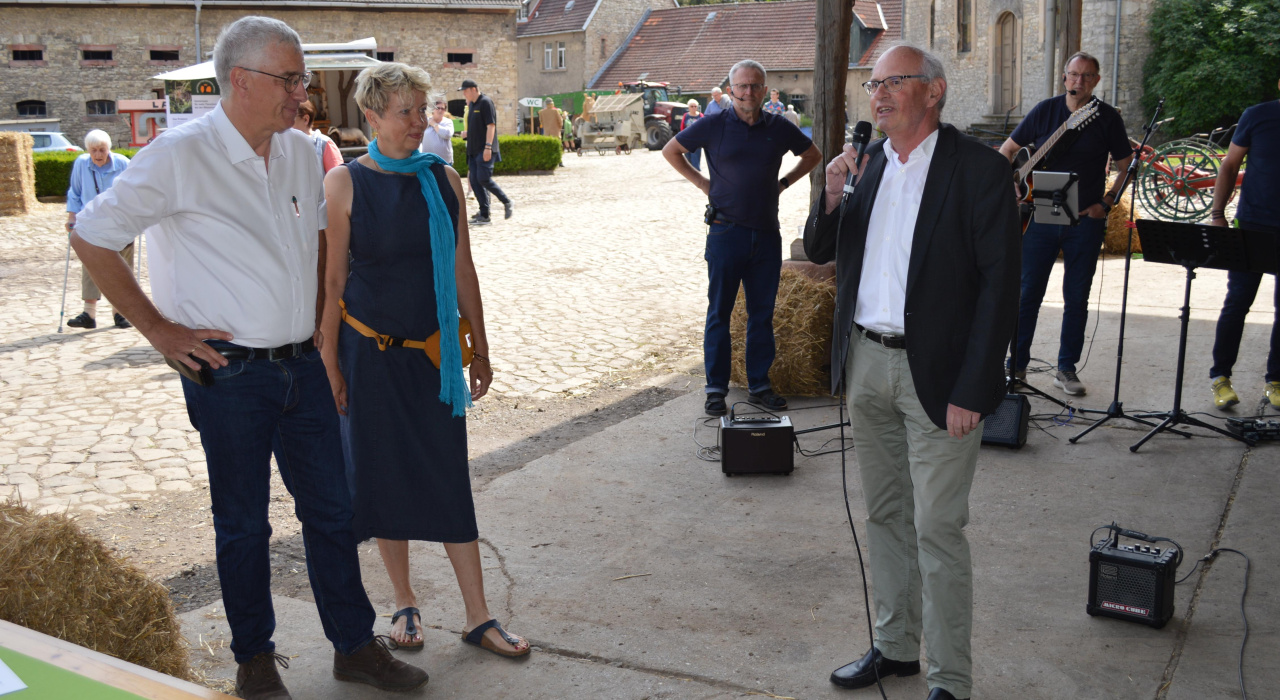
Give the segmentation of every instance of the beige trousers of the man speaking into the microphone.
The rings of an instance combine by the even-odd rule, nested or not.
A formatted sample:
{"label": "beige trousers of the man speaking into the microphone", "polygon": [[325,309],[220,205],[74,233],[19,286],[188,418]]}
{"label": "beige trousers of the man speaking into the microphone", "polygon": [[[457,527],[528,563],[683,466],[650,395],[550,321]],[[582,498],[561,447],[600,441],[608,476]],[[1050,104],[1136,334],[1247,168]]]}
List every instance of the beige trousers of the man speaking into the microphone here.
{"label": "beige trousers of the man speaking into the microphone", "polygon": [[863,333],[850,339],[845,376],[867,502],[876,648],[915,660],[923,635],[929,688],[969,697],[973,562],[964,527],[983,424],[963,439],[933,425],[906,351]]}

